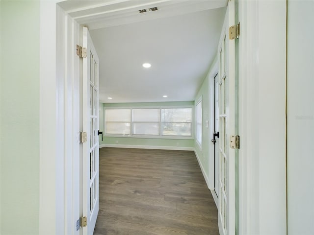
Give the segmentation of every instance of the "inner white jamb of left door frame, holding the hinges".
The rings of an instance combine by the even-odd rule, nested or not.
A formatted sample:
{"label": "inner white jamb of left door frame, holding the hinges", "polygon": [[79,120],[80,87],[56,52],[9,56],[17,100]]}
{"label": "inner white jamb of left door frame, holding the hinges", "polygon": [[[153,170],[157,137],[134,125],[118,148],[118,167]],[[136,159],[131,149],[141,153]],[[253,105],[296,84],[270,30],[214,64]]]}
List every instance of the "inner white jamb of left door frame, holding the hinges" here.
{"label": "inner white jamb of left door frame, holding the hinges", "polygon": [[78,235],[76,223],[82,216],[80,205],[80,156],[81,144],[79,143],[80,123],[80,97],[81,97],[81,74],[79,71],[80,59],[76,55],[76,44],[80,41],[80,26],[63,9],[56,5],[56,71],[58,80],[58,122],[61,133],[60,154],[63,157],[63,181],[62,194],[59,195],[63,208],[62,226],[57,226],[59,234]]}

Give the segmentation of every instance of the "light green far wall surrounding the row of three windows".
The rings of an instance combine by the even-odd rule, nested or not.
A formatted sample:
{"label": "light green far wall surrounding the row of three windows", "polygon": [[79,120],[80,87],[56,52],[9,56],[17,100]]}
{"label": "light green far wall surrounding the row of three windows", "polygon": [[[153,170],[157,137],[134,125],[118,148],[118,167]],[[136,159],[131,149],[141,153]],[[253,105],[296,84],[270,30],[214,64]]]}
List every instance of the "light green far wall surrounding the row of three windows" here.
{"label": "light green far wall surrounding the row of three windows", "polygon": [[[151,103],[105,103],[103,108],[100,108],[100,128],[104,119],[104,108],[110,107],[169,107],[169,106],[188,106],[194,105],[194,101],[184,102],[151,102]],[[105,130],[104,126],[103,129]],[[144,146],[156,146],[156,147],[194,147],[194,140],[180,140],[180,139],[157,139],[157,138],[128,138],[128,137],[104,137],[104,141],[100,144],[121,144],[121,145],[144,145]]]}

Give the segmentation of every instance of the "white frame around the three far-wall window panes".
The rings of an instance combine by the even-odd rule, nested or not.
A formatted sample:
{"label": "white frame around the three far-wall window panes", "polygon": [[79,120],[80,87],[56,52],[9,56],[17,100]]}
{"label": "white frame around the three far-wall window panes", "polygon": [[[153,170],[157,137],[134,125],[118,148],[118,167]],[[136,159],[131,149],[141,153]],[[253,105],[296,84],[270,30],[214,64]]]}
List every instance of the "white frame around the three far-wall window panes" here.
{"label": "white frame around the three far-wall window panes", "polygon": [[[191,136],[171,136],[171,135],[161,135],[162,134],[162,126],[161,126],[161,110],[162,109],[192,109],[192,120],[191,120]],[[123,135],[123,134],[106,134],[106,116],[105,112],[109,109],[130,109],[131,110],[131,134]],[[133,109],[159,109],[160,110],[160,117],[159,117],[159,135],[137,135],[133,134],[133,116],[132,110]],[[194,106],[193,105],[183,105],[183,106],[130,106],[130,107],[105,107],[104,106],[104,136],[105,137],[127,137],[127,138],[145,138],[145,139],[177,139],[177,140],[194,140]],[[135,122],[137,123],[137,122]],[[188,123],[188,122],[187,122]]]}

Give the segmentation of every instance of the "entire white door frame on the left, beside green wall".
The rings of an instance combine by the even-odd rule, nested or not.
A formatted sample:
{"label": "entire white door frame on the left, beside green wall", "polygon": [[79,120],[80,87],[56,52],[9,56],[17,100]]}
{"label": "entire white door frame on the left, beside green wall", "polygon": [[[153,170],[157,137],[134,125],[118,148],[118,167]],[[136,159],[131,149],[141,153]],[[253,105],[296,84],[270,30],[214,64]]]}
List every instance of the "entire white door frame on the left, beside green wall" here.
{"label": "entire white door frame on the left, beside green wall", "polygon": [[56,0],[40,3],[39,234],[78,235],[79,25]]}

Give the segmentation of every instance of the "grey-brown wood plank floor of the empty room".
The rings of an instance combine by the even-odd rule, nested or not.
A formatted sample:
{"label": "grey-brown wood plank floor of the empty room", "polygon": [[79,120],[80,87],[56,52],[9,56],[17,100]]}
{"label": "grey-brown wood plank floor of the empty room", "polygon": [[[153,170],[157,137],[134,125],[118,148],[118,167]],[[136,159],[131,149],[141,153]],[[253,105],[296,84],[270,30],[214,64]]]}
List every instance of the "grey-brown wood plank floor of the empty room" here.
{"label": "grey-brown wood plank floor of the empty room", "polygon": [[194,152],[100,149],[94,235],[218,235],[217,208]]}

